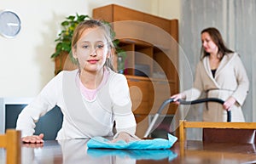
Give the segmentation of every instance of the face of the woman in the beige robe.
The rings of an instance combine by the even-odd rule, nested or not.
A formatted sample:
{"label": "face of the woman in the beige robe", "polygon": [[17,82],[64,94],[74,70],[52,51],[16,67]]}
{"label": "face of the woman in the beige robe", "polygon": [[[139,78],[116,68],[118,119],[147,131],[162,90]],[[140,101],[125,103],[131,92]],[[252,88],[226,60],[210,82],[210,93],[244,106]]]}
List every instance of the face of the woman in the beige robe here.
{"label": "face of the woman in the beige robe", "polygon": [[205,51],[209,54],[217,54],[218,46],[212,41],[208,32],[203,32],[201,34],[201,44]]}

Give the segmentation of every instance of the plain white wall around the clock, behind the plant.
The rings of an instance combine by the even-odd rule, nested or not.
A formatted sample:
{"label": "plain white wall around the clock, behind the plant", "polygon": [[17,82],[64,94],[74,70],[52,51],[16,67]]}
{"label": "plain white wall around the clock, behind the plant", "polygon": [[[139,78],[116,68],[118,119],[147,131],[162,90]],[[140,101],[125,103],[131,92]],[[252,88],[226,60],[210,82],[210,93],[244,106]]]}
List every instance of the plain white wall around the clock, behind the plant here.
{"label": "plain white wall around the clock, behind the plant", "polygon": [[[161,1],[149,0],[8,0],[0,9],[10,9],[19,14],[20,34],[7,39],[0,36],[0,97],[32,97],[39,93],[54,76],[55,64],[50,55],[55,50],[55,37],[60,23],[70,14],[92,15],[92,8],[116,3],[145,13],[166,14]],[[152,5],[157,2],[157,5]],[[168,17],[169,15],[167,15]]]}

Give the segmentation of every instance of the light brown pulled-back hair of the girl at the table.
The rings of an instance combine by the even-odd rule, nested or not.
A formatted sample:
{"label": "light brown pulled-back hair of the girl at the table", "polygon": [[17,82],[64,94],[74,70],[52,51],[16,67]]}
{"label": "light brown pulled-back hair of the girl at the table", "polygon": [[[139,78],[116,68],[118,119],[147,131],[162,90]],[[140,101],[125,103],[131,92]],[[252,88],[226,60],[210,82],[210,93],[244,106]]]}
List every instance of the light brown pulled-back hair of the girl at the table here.
{"label": "light brown pulled-back hair of the girl at the table", "polygon": [[[84,20],[83,22],[80,22],[79,25],[77,25],[76,29],[73,32],[73,38],[72,38],[72,48],[76,48],[77,42],[79,41],[80,37],[82,36],[82,33],[89,29],[89,28],[102,28],[102,30],[105,32],[105,37],[108,42],[108,51],[109,51],[109,58],[106,59],[105,66],[113,69],[113,52],[115,52],[114,46],[113,46],[113,29],[110,27],[108,23],[103,23],[101,20]],[[78,62],[79,65],[79,62]]]}

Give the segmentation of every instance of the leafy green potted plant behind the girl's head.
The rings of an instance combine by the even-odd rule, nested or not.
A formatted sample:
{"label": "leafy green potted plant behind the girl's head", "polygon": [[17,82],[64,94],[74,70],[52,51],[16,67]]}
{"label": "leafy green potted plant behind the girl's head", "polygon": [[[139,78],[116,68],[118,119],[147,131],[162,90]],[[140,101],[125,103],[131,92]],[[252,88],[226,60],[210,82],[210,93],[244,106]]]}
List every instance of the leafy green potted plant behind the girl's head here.
{"label": "leafy green potted plant behind the girl's head", "polygon": [[[71,52],[71,42],[73,37],[73,31],[80,22],[84,20],[90,20],[90,16],[84,14],[69,15],[66,20],[61,22],[61,32],[55,39],[55,53],[51,54],[50,58],[55,59],[55,75],[62,70],[73,70],[77,68],[76,60],[73,58]],[[105,24],[110,25],[104,21]],[[115,37],[115,32],[112,31],[112,37]],[[124,63],[126,54],[122,48],[119,48],[119,40],[113,40],[115,47],[115,54],[117,54],[117,69],[120,73],[124,70]],[[68,57],[68,59],[67,59]],[[66,63],[65,63],[66,62]],[[65,67],[64,67],[65,65]]]}

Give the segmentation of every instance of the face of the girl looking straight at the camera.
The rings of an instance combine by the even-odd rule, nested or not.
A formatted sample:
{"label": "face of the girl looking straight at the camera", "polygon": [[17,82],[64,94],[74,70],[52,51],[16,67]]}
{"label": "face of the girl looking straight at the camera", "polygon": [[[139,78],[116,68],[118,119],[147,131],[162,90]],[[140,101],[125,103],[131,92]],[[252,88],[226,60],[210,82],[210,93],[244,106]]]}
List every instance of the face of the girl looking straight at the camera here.
{"label": "face of the girl looking straight at the camera", "polygon": [[73,56],[79,59],[81,71],[101,71],[106,59],[109,57],[108,42],[101,28],[86,29],[76,48],[73,49]]}

